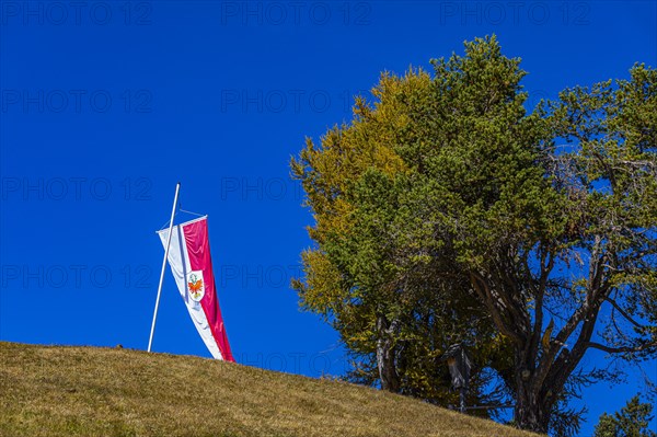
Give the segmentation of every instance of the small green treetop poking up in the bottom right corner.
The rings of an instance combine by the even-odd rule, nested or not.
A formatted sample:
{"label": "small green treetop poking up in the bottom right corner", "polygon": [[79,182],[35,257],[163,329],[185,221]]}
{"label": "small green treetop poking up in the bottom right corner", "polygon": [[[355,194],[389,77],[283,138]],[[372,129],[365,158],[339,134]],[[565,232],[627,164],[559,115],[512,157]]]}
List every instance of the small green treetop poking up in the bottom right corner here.
{"label": "small green treetop poking up in the bottom right corner", "polygon": [[649,429],[653,405],[642,403],[636,395],[620,412],[602,413],[593,437],[657,437],[657,433]]}

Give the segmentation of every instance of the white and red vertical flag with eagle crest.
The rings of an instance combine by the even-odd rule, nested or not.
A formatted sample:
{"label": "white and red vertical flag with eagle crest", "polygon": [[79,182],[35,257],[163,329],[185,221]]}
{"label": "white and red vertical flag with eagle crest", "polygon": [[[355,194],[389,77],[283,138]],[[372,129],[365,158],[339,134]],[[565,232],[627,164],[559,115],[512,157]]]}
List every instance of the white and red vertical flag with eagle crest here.
{"label": "white and red vertical flag with eagle crest", "polygon": [[[212,357],[234,361],[215,287],[207,216],[176,225],[171,232],[169,265],[194,325]],[[166,248],[169,229],[158,234]]]}

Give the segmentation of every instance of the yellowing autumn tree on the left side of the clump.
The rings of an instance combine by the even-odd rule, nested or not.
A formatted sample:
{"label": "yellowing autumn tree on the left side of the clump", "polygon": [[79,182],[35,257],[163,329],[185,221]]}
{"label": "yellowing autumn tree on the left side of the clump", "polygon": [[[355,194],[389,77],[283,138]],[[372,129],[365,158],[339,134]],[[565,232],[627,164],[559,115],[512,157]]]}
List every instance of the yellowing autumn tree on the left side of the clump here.
{"label": "yellowing autumn tree on the left side of the clump", "polygon": [[[448,248],[423,225],[431,212],[426,198],[408,193],[424,191],[415,180],[422,175],[410,173],[390,147],[390,138],[413,141],[416,135],[402,126],[413,122],[399,97],[416,100],[413,106],[422,111],[430,85],[424,71],[403,80],[384,76],[374,90],[382,97],[378,111],[359,100],[351,126],[331,129],[321,150],[309,140],[292,161],[315,211],[310,233],[321,245],[302,254],[306,283],[295,286],[307,309],[332,318],[356,358],[351,379],[446,404],[456,403],[457,394],[449,392],[448,367],[439,360],[445,350],[475,332],[488,336],[491,342],[472,344],[481,370],[506,344],[472,296],[453,292],[468,283],[450,275],[450,260],[429,256]],[[487,380],[475,372],[471,403],[483,401]]]}

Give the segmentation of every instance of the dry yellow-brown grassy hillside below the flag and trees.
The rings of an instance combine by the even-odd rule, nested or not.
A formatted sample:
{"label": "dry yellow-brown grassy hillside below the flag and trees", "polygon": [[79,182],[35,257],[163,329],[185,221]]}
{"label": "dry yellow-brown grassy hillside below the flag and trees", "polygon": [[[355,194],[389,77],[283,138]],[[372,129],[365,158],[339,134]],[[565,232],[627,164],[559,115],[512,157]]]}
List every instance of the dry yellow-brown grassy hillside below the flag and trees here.
{"label": "dry yellow-brown grassy hillside below the flag and trees", "polygon": [[230,363],[0,342],[0,436],[534,435],[364,387]]}

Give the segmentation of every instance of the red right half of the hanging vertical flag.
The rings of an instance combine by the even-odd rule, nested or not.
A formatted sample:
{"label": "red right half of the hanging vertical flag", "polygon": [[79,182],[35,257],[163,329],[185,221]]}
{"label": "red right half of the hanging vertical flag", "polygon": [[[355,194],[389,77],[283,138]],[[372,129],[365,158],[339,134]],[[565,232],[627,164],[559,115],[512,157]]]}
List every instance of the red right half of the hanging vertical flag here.
{"label": "red right half of the hanging vertical flag", "polygon": [[234,363],[235,359],[230,350],[223,318],[219,308],[219,298],[217,297],[217,287],[215,286],[215,275],[212,274],[212,260],[210,257],[210,243],[208,239],[207,220],[198,220],[183,227],[185,242],[187,243],[187,254],[189,265],[193,271],[203,271],[203,281],[205,285],[205,296],[200,300],[200,306],[210,325],[210,331],[221,356],[224,360]]}

